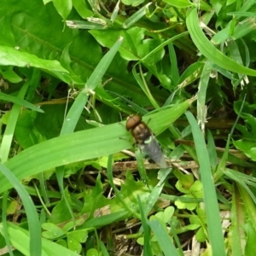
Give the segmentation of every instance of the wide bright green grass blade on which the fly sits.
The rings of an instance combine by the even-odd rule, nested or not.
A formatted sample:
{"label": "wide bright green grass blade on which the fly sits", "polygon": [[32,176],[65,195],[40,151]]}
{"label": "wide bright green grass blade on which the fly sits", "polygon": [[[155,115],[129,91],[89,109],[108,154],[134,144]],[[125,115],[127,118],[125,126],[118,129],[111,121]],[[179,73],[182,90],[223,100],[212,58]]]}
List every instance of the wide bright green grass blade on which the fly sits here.
{"label": "wide bright green grass blade on which the fly sits", "polygon": [[[183,114],[191,102],[193,100],[185,101],[159,113],[148,114],[147,117],[143,117],[143,120],[147,122],[150,119],[148,126],[154,134],[158,135]],[[123,125],[116,123],[55,137],[26,148],[4,165],[21,180],[56,166],[90,160],[132,148],[131,133],[126,131],[125,122],[121,124]],[[127,138],[130,141],[120,138]],[[11,184],[0,173],[0,193],[9,188]]]}

